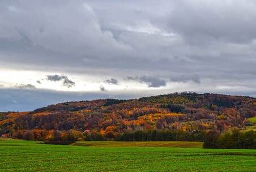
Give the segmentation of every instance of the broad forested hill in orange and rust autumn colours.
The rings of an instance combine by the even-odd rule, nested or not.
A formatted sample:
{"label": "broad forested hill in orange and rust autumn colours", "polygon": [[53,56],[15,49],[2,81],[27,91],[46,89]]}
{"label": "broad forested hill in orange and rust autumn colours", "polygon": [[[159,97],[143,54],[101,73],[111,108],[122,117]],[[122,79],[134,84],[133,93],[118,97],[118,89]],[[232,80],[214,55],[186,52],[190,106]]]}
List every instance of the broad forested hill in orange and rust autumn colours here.
{"label": "broad forested hill in orange and rust autumn colours", "polygon": [[65,102],[23,113],[0,113],[0,134],[75,130],[108,139],[127,131],[223,132],[244,128],[256,115],[256,99],[223,94],[172,93],[135,100]]}

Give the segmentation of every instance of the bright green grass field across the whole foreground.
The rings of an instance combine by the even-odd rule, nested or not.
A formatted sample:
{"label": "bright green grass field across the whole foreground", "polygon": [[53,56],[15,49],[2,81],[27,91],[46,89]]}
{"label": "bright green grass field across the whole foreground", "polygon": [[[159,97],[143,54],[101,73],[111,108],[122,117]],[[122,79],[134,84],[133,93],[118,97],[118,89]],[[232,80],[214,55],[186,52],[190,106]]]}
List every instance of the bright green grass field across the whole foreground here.
{"label": "bright green grass field across the whole foreground", "polygon": [[0,139],[0,171],[256,171],[256,150],[78,144]]}

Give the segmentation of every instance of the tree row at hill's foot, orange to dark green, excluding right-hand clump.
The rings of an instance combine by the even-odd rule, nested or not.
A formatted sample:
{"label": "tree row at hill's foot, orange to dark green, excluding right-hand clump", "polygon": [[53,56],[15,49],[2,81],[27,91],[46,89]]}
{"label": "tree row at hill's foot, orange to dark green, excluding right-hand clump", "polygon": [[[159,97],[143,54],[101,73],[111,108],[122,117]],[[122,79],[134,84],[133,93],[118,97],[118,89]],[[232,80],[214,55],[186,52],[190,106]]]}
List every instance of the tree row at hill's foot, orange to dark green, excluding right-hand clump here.
{"label": "tree row at hill's foot, orange to dark green, excluding right-hand clump", "polygon": [[203,141],[204,132],[187,132],[182,130],[139,130],[109,136],[97,131],[59,131],[59,130],[18,130],[12,135],[14,139],[44,140],[45,143],[70,144],[78,140],[86,141]]}

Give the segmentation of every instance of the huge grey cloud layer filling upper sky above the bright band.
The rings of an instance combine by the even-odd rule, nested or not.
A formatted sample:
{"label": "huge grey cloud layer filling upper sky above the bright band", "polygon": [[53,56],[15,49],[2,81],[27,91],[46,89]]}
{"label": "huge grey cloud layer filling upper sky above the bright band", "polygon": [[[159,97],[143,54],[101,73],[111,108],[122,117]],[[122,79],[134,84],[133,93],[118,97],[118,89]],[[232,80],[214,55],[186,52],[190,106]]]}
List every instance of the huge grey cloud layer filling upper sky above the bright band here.
{"label": "huge grey cloud layer filling upper sky above the bright band", "polygon": [[[123,3],[125,11],[120,8]],[[142,75],[153,68],[159,75],[187,71],[200,72],[206,78],[210,77],[205,70],[207,61],[212,61],[213,71],[231,65],[227,68],[230,75],[255,66],[253,1],[104,4],[2,1],[0,14],[5,18],[0,29],[0,61],[36,65],[41,70],[50,66],[61,72],[94,74],[96,68],[103,73],[112,68],[122,69],[120,75],[133,69]],[[53,17],[46,18],[39,8]],[[220,10],[216,13],[215,9]],[[174,35],[165,36],[164,32]],[[237,55],[244,59],[241,68],[234,67],[240,64],[241,57],[234,58]]]}

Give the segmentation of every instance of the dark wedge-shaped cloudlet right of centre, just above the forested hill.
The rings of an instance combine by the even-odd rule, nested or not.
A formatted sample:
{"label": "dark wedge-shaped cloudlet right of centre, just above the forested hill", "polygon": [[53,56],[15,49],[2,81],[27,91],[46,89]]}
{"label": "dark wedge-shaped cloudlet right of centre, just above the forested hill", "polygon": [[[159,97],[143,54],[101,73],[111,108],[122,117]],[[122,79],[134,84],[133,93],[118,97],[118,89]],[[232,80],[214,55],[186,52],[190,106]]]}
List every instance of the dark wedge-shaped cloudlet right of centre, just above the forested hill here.
{"label": "dark wedge-shaped cloudlet right of centre, just above the forested hill", "polygon": [[162,87],[167,84],[167,81],[164,79],[160,79],[156,76],[140,76],[139,78],[140,81],[146,83],[148,87]]}

